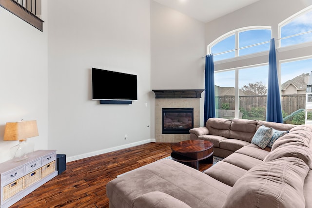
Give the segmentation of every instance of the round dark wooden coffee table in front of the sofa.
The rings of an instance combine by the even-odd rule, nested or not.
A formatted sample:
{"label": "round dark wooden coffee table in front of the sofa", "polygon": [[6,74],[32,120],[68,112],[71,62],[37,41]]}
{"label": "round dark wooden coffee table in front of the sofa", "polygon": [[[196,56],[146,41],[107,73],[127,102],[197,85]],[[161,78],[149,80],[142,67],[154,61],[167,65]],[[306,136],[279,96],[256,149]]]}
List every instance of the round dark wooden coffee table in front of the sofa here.
{"label": "round dark wooden coffee table in front of the sofa", "polygon": [[187,140],[171,145],[173,160],[198,170],[199,161],[213,164],[214,144],[205,140]]}

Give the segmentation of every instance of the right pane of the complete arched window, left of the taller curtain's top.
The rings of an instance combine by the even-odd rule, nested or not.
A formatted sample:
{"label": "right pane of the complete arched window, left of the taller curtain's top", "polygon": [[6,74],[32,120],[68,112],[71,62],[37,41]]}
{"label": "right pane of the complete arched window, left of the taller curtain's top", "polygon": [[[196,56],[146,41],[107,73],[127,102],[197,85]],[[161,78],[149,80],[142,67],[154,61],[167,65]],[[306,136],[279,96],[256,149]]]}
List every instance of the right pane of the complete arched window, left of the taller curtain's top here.
{"label": "right pane of the complete arched window, left of the taller curtain's top", "polygon": [[[239,33],[238,37],[239,48],[248,47],[254,44],[270,41],[271,30],[248,30]],[[270,42],[251,46],[244,49],[239,49],[239,56],[253,54],[261,51],[268,51],[270,49]]]}

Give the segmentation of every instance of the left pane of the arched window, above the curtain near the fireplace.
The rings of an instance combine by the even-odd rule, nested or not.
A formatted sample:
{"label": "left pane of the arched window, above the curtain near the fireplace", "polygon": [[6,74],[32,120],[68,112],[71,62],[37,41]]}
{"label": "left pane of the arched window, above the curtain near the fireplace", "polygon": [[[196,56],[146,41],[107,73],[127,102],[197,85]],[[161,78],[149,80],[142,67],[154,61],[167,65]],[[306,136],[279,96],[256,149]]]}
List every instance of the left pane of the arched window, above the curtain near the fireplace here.
{"label": "left pane of the arched window, above the curtain near the fireplace", "polygon": [[[235,35],[232,35],[216,43],[211,48],[211,53],[214,54],[214,61],[217,61],[217,60],[235,57],[235,51],[223,53],[223,52],[234,50],[234,49],[235,49]],[[222,54],[219,54],[219,53],[222,53]]]}

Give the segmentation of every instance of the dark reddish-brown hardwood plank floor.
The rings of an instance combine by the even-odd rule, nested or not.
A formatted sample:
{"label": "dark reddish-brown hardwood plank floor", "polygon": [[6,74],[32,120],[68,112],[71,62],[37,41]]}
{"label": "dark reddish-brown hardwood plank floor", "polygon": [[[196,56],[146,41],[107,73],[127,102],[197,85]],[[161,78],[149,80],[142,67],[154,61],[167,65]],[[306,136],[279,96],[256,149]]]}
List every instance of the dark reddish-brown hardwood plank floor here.
{"label": "dark reddish-brown hardwood plank floor", "polygon": [[121,173],[169,156],[171,145],[149,143],[68,162],[63,173],[10,208],[108,208],[106,184]]}

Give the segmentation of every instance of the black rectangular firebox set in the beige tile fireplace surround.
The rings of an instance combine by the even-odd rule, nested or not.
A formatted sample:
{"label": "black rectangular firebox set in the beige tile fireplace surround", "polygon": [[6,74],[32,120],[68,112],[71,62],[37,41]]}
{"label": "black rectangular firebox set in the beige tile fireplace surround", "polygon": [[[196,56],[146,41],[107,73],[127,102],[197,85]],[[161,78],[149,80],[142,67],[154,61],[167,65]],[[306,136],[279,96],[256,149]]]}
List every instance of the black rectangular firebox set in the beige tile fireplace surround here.
{"label": "black rectangular firebox set in the beige tile fireplace surround", "polygon": [[162,134],[190,133],[194,128],[194,108],[162,108]]}

